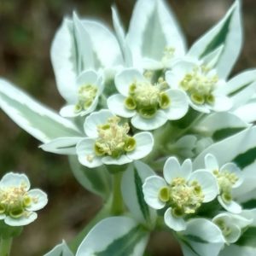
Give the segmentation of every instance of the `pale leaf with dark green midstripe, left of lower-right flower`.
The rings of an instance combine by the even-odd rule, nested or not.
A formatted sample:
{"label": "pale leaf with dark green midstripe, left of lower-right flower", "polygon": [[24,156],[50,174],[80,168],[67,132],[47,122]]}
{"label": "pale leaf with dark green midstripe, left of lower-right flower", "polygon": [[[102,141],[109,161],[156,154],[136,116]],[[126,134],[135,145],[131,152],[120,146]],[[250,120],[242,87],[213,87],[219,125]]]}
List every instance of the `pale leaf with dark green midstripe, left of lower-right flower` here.
{"label": "pale leaf with dark green midstripe, left of lower-right flower", "polygon": [[121,191],[126,207],[138,222],[154,225],[156,212],[144,201],[143,183],[146,177],[155,175],[154,171],[142,161],[135,161],[125,171]]}

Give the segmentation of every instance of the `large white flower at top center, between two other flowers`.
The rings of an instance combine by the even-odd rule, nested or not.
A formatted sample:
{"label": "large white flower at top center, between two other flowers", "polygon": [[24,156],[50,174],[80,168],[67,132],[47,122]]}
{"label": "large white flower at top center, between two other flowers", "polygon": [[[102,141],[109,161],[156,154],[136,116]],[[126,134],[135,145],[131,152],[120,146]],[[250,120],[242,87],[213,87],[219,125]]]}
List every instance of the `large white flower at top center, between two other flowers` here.
{"label": "large white flower at top center, between two other flowers", "polygon": [[137,69],[125,69],[115,76],[119,94],[108,98],[113,113],[131,118],[131,124],[143,131],[157,129],[168,119],[181,119],[188,111],[182,90],[170,89],[163,79],[156,83],[150,79]]}

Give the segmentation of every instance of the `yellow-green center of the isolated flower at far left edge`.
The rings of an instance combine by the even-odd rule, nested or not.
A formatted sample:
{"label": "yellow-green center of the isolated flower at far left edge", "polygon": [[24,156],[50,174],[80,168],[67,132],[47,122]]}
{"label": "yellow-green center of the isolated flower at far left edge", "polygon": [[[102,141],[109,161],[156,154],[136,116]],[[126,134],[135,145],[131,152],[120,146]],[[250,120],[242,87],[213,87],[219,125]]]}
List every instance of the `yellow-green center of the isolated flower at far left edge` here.
{"label": "yellow-green center of the isolated flower at far left edge", "polygon": [[12,218],[26,216],[28,214],[26,207],[37,201],[38,198],[27,194],[24,184],[21,184],[20,187],[0,189],[0,214],[9,215]]}

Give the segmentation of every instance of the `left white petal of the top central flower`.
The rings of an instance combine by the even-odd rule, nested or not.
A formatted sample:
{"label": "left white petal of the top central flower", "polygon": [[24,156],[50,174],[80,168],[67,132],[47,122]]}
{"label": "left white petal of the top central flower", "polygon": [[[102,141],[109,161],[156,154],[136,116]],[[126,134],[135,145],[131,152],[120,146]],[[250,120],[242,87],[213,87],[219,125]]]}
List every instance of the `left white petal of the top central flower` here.
{"label": "left white petal of the top central flower", "polygon": [[113,96],[108,97],[108,108],[115,114],[124,117],[131,118],[135,115],[135,110],[129,110],[125,108],[125,96],[121,94],[115,94]]}

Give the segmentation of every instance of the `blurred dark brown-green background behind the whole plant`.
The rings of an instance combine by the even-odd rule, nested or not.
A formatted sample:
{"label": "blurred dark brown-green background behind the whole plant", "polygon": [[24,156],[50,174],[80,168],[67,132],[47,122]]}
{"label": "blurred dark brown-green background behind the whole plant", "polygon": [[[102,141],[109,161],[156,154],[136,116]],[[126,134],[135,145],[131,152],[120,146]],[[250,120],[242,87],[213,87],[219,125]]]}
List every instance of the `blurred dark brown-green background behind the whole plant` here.
{"label": "blurred dark brown-green background behind the whole plant", "polygon": [[[230,0],[171,0],[189,45],[219,20]],[[0,0],[0,76],[18,84],[31,96],[59,110],[64,101],[55,88],[49,60],[51,40],[64,15],[73,9],[80,16],[111,25],[110,6],[115,3],[127,27],[135,0]],[[242,14],[245,43],[234,73],[256,66],[256,1],[244,0]],[[236,42],[234,42],[236,44]],[[0,110],[1,111],[1,110]],[[49,204],[38,220],[15,239],[12,255],[43,255],[61,239],[70,241],[101,206],[69,170],[67,158],[38,148],[40,143],[0,112],[0,177],[14,170],[25,172],[32,187],[44,189]],[[178,249],[166,234],[154,234],[150,255],[175,256]]]}

